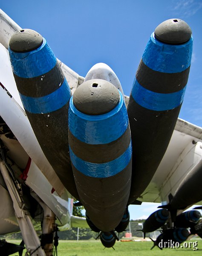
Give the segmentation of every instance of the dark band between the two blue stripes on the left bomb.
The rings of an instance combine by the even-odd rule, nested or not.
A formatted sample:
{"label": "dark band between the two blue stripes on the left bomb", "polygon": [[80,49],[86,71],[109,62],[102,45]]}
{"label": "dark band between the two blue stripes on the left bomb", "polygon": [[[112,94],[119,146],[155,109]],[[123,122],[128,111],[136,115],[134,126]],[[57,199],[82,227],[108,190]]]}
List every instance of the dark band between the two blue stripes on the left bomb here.
{"label": "dark band between the two blue stripes on the left bomb", "polygon": [[56,65],[48,73],[33,78],[23,78],[14,74],[19,93],[29,97],[43,97],[57,90],[64,81],[61,67]]}

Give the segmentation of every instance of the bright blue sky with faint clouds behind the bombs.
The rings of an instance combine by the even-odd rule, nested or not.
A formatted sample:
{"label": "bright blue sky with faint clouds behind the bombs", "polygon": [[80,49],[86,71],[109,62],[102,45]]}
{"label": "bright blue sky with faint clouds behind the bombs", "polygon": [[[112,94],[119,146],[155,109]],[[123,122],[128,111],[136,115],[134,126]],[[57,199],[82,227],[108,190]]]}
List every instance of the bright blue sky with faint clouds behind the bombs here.
{"label": "bright blue sky with faint clouds behind the bombs", "polygon": [[[9,0],[3,9],[22,28],[46,38],[56,57],[79,75],[98,62],[108,64],[130,95],[144,47],[156,26],[185,20],[193,32],[193,57],[179,117],[202,126],[201,0]],[[131,218],[150,215],[156,206],[130,207]]]}

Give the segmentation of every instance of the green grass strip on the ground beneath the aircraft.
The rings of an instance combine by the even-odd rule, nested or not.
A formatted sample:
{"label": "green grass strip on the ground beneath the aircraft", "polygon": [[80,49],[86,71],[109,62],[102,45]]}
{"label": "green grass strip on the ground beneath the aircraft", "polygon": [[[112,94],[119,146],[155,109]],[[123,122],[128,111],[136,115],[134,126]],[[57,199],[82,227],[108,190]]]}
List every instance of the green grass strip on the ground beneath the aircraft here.
{"label": "green grass strip on the ground beneath the aircraft", "polygon": [[[115,243],[115,250],[113,248],[105,248],[100,241],[59,241],[58,246],[58,256],[192,256],[202,255],[202,240],[190,240],[198,241],[198,250],[193,251],[193,248],[179,248],[170,249],[166,248],[160,250],[158,247],[154,247],[153,250],[150,248],[153,245],[152,241],[131,241],[131,242],[121,242]],[[12,241],[13,242],[13,241]],[[17,244],[20,241],[15,241]],[[183,244],[183,243],[182,243]],[[182,245],[181,244],[181,245]],[[25,254],[25,250],[23,256]],[[12,256],[18,256],[17,253],[12,254]]]}

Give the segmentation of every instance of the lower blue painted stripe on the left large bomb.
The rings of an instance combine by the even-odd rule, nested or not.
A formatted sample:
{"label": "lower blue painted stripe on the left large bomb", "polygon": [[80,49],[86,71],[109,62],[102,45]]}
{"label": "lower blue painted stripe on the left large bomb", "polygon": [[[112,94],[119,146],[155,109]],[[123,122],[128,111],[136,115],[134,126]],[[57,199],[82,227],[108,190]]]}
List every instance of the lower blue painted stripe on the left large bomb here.
{"label": "lower blue painted stripe on the left large bomb", "polygon": [[33,114],[51,113],[62,108],[69,101],[71,92],[69,85],[64,80],[61,87],[55,92],[50,93],[43,97],[28,97],[20,94],[24,108]]}

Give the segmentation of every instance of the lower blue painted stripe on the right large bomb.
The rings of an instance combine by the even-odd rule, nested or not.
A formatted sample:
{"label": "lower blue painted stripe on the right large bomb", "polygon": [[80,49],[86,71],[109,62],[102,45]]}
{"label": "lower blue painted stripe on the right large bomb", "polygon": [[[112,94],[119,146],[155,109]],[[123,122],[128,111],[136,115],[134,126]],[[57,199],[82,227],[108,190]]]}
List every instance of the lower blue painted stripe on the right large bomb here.
{"label": "lower blue painted stripe on the right large bomb", "polygon": [[143,108],[166,111],[178,107],[184,99],[186,86],[175,93],[155,93],[142,87],[135,79],[132,88],[133,99]]}

